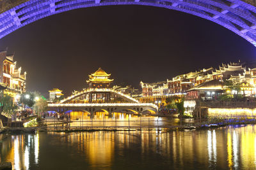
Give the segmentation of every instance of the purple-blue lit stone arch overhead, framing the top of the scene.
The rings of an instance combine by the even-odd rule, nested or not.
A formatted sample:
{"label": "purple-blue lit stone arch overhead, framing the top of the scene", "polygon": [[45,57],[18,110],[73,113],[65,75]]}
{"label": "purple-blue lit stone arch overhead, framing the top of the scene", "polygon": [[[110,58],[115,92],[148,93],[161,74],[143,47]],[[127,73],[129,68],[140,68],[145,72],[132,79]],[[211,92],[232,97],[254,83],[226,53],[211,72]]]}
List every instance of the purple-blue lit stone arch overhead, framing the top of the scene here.
{"label": "purple-blue lit stone arch overhead, framing the top of the scene", "polygon": [[56,13],[122,4],[156,6],[196,15],[222,25],[256,46],[255,0],[0,0],[0,38]]}

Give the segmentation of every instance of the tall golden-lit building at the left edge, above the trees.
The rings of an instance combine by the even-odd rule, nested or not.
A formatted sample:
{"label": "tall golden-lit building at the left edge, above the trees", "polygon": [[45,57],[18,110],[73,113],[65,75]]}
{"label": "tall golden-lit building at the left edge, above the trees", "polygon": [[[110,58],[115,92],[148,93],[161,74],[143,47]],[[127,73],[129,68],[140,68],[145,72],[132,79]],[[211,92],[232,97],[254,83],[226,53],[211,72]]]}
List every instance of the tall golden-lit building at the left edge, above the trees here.
{"label": "tall golden-lit building at the left edge, above the trees", "polygon": [[6,50],[0,52],[0,81],[6,86],[6,94],[15,97],[26,91],[26,72],[17,69],[17,62],[13,60],[14,55],[7,55]]}

